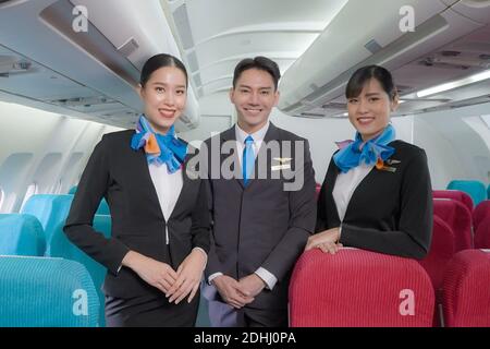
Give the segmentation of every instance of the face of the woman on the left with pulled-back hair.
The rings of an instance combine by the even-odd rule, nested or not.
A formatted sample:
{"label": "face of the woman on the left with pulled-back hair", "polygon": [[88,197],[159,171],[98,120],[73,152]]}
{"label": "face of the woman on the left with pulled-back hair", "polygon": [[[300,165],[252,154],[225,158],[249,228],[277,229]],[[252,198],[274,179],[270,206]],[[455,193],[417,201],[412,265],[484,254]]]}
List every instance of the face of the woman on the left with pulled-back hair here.
{"label": "face of the woman on the left with pulled-back hair", "polygon": [[139,96],[154,131],[166,134],[185,109],[187,84],[184,72],[175,67],[154,71],[145,86],[139,86]]}

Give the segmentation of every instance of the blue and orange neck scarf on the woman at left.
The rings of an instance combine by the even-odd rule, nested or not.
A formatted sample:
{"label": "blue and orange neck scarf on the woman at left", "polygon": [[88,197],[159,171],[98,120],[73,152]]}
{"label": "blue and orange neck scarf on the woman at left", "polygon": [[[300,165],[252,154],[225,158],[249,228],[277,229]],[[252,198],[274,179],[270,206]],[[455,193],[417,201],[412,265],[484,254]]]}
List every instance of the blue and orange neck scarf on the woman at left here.
{"label": "blue and orange neck scarf on the woman at left", "polygon": [[139,117],[131,147],[135,151],[143,147],[148,164],[157,166],[166,164],[169,173],[174,173],[181,168],[187,154],[187,145],[175,137],[173,125],[164,135],[156,133],[144,115]]}

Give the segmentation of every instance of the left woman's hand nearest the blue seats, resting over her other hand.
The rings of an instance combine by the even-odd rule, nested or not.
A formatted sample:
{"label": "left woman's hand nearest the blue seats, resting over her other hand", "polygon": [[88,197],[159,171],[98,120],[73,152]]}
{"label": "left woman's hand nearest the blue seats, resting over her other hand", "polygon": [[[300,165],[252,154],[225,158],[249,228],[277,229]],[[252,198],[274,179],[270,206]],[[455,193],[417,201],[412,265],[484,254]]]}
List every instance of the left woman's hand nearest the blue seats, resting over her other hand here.
{"label": "left woman's hand nearest the blue seats, resting over her other hand", "polygon": [[132,268],[145,282],[167,293],[177,279],[177,273],[167,263],[149,258],[140,253],[130,251],[122,262]]}

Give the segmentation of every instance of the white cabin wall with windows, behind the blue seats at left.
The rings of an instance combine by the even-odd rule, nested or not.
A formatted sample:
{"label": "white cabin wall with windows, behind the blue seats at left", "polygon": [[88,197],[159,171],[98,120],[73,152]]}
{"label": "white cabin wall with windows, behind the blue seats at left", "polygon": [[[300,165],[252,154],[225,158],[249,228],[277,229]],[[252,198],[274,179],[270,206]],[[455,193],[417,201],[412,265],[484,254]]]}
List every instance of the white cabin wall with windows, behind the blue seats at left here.
{"label": "white cabin wall with windows, behind the blue seats at left", "polygon": [[[96,122],[0,101],[0,167],[12,154],[32,154],[28,166],[22,172],[13,168],[2,169],[2,177],[11,180],[0,183],[5,195],[9,195],[1,212],[17,212],[27,188],[33,183],[41,184],[39,193],[54,192],[60,180],[63,190],[75,184],[102,134],[117,130]],[[73,166],[73,153],[82,155],[78,155],[77,168],[68,171],[68,167]],[[53,154],[60,155],[57,164],[49,170],[41,170],[40,166],[45,166],[42,159]],[[70,178],[63,176],[65,173]],[[64,183],[64,180],[70,183]],[[15,197],[11,194],[15,194]]]}

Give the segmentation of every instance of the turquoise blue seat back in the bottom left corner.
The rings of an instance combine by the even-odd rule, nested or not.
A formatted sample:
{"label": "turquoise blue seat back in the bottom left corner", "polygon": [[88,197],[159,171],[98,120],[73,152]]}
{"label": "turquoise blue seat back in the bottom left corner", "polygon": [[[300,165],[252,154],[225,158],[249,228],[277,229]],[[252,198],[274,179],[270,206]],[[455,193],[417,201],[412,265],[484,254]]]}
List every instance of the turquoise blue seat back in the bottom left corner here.
{"label": "turquoise blue seat back in the bottom left corner", "polygon": [[0,256],[0,327],[96,327],[100,301],[84,265]]}

